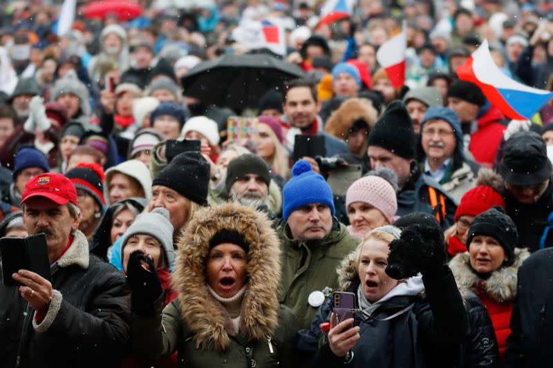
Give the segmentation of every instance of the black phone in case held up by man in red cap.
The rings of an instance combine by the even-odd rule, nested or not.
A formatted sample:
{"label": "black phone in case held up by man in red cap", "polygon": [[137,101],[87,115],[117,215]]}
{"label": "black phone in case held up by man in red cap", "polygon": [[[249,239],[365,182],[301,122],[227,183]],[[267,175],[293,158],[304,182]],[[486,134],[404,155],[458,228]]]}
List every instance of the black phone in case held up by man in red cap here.
{"label": "black phone in case held up by man in red cap", "polygon": [[42,278],[52,282],[44,233],[30,235],[27,238],[1,238],[0,260],[2,283],[7,287],[21,286],[20,282],[12,278],[12,274],[21,269],[38,273]]}

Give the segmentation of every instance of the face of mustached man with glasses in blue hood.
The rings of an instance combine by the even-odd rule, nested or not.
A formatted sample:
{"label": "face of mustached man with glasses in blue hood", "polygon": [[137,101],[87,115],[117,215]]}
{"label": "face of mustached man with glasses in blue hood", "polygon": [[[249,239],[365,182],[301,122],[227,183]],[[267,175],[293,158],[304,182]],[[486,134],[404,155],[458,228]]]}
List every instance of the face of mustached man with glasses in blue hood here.
{"label": "face of mustached man with glasses in blue hood", "polygon": [[453,155],[457,141],[451,125],[442,119],[431,119],[422,129],[422,149],[428,159],[444,162]]}

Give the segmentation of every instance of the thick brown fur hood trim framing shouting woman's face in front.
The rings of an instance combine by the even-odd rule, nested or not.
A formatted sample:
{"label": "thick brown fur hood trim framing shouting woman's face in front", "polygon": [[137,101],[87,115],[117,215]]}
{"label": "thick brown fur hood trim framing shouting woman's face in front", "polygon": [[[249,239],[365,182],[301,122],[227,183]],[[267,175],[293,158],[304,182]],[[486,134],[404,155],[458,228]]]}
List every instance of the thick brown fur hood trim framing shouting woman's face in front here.
{"label": "thick brown fur hood trim framing shouting woman's face in front", "polygon": [[238,231],[250,244],[247,253],[248,289],[243,296],[241,332],[248,340],[272,336],[278,325],[277,299],[281,277],[280,243],[268,217],[236,203],[201,209],[178,242],[173,287],[178,291],[180,314],[194,336],[196,348],[225,351],[234,331],[224,307],[205,280],[209,240],[221,229]]}

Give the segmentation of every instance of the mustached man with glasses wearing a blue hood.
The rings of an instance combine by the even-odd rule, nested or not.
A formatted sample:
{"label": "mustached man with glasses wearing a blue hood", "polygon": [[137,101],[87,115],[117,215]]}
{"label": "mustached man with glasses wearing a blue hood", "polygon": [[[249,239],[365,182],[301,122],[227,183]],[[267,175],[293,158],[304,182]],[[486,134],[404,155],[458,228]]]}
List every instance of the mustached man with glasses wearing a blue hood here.
{"label": "mustached man with glasses wearing a blue hood", "polygon": [[431,106],[421,123],[421,144],[424,151],[422,171],[440,183],[456,203],[474,186],[474,169],[463,154],[461,124],[456,113],[447,107]]}

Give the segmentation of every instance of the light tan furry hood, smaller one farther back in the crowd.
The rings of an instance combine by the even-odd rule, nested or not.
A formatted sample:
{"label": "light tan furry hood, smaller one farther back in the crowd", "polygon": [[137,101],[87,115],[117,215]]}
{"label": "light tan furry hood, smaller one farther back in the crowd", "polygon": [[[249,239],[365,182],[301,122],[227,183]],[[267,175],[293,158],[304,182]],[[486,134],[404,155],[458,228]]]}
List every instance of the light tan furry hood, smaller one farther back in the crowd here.
{"label": "light tan furry hood, smaller one farther back in the crowd", "polygon": [[348,139],[348,132],[356,120],[364,120],[369,127],[373,128],[377,119],[377,112],[368,99],[347,99],[335,110],[326,121],[325,130],[335,137],[345,141]]}

